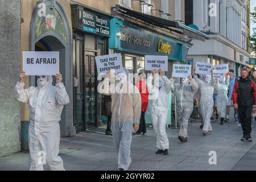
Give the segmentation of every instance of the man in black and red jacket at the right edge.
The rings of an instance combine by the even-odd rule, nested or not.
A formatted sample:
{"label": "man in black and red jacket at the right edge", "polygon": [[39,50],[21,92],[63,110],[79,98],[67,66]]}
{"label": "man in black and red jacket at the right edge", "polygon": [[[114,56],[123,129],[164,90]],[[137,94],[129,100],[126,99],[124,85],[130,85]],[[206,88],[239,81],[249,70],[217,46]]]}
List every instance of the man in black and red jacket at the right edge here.
{"label": "man in black and red jacket at the right edge", "polygon": [[232,101],[240,116],[243,130],[241,141],[252,142],[251,110],[256,106],[256,85],[250,80],[247,69],[242,69],[240,80],[237,80],[234,85]]}

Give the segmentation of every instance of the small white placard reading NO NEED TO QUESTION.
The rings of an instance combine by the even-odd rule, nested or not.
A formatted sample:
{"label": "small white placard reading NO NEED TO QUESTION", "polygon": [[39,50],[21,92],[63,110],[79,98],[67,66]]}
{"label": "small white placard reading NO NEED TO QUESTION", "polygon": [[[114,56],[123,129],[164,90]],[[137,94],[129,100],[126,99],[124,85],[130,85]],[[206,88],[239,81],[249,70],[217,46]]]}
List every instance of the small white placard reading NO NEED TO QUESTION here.
{"label": "small white placard reading NO NEED TO QUESTION", "polygon": [[191,65],[189,64],[174,64],[172,67],[172,76],[187,78],[191,75]]}

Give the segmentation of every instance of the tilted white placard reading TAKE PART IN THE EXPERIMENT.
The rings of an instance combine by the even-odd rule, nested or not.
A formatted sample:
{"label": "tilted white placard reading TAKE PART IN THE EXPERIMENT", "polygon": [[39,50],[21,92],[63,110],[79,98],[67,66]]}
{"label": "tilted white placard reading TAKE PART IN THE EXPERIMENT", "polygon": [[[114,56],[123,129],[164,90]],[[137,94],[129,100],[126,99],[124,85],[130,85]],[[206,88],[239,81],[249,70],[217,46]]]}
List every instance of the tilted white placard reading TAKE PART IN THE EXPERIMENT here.
{"label": "tilted white placard reading TAKE PART IN THE EXPERIMENT", "polygon": [[104,55],[96,57],[96,65],[98,74],[106,73],[110,70],[115,72],[121,72],[123,70],[121,53],[115,53],[113,55]]}

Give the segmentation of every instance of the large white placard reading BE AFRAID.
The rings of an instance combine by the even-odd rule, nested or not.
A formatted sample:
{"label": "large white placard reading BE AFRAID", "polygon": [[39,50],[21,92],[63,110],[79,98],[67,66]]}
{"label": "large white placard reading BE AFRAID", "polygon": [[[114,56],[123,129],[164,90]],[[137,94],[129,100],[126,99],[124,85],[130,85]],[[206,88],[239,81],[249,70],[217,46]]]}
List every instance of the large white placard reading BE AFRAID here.
{"label": "large white placard reading BE AFRAID", "polygon": [[59,73],[59,52],[23,51],[23,71],[26,75],[56,75]]}

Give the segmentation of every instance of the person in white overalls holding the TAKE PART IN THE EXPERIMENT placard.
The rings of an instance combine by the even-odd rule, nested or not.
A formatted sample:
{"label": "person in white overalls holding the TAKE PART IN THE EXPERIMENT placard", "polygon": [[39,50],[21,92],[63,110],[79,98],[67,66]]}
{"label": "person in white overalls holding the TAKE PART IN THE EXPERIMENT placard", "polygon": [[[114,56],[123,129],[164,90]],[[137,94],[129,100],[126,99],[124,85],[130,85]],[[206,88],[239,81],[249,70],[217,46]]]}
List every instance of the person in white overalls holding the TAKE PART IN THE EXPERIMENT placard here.
{"label": "person in white overalls holding the TAKE PART IN THE EXPERIMENT placard", "polygon": [[[126,171],[131,163],[130,147],[132,131],[138,131],[141,118],[141,94],[139,90],[129,81],[129,72],[123,68],[123,72],[113,80],[113,73],[106,73],[104,81],[98,84],[98,92],[112,96],[112,125],[111,131],[114,145],[118,152],[118,169]],[[133,126],[134,124],[134,126]]]}

